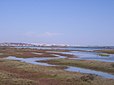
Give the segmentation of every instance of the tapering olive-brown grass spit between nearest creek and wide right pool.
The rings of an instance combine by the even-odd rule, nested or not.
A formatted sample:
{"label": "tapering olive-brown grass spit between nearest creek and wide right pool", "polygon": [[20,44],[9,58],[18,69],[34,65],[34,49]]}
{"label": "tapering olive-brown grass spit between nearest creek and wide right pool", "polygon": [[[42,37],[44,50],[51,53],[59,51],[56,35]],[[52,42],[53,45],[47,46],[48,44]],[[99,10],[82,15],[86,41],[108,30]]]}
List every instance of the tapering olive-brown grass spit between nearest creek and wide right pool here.
{"label": "tapering olive-brown grass spit between nearest creek and wide right pool", "polygon": [[100,62],[100,61],[94,61],[94,60],[58,59],[58,60],[47,60],[42,62],[47,62],[49,64],[56,64],[56,65],[77,66],[77,67],[83,67],[83,68],[89,68],[93,70],[114,73],[113,63]]}

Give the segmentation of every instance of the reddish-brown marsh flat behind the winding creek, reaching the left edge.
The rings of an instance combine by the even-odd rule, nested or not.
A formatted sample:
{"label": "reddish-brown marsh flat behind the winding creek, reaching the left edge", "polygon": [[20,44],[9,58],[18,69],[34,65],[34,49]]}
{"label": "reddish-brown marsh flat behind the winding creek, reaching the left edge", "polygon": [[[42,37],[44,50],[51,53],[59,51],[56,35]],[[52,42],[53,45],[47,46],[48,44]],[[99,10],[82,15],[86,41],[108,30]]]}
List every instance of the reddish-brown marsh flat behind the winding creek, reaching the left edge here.
{"label": "reddish-brown marsh flat behind the winding creek, reaching the left edge", "polygon": [[39,50],[29,48],[4,48],[0,49],[1,58],[7,56],[16,56],[20,58],[31,58],[31,57],[57,57],[56,55],[66,56],[67,58],[76,58],[77,56],[72,54],[63,54],[59,52],[68,52],[68,50]]}

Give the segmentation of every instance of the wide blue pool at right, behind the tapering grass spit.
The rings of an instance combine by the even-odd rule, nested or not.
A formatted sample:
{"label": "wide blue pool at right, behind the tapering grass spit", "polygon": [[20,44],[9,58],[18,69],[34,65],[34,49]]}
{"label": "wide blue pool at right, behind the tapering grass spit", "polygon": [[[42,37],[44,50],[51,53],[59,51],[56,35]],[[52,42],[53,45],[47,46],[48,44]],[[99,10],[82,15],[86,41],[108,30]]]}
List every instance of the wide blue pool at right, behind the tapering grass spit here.
{"label": "wide blue pool at right, behind the tapering grass spit", "polygon": [[[64,52],[65,53],[65,52]],[[66,52],[67,54],[76,55],[78,58],[70,58],[70,59],[78,59],[78,60],[96,60],[102,62],[114,62],[114,54],[109,54],[109,56],[99,56],[99,53],[96,52]]]}

